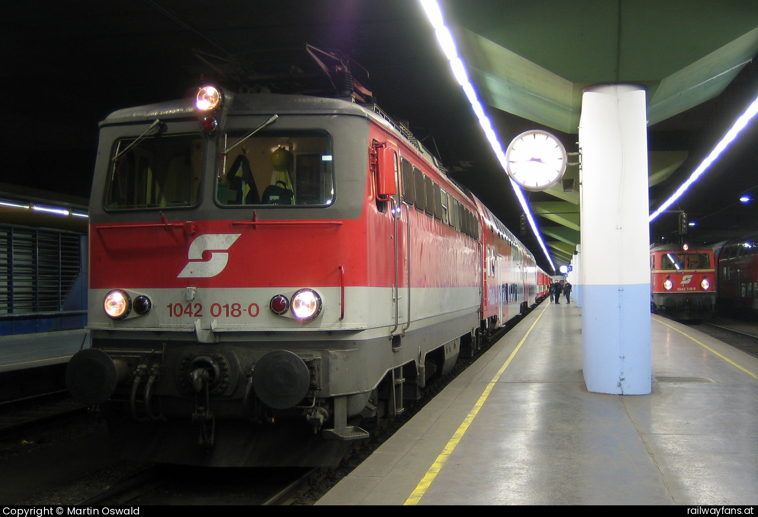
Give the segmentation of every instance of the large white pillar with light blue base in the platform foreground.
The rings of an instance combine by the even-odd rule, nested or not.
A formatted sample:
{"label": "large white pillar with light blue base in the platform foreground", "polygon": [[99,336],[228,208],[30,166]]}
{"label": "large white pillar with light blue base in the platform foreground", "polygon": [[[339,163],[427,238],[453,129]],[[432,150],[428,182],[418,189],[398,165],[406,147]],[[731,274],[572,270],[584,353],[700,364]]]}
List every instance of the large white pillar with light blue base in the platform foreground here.
{"label": "large white pillar with light blue base in the platform foreground", "polygon": [[590,392],[652,391],[647,102],[643,87],[584,90],[582,366]]}

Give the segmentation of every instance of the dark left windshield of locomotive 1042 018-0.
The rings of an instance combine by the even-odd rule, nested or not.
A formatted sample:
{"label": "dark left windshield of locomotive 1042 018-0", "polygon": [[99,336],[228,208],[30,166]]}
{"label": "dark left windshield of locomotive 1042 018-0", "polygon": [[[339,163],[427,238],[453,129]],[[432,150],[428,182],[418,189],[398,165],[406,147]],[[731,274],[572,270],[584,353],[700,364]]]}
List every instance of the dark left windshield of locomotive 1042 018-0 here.
{"label": "dark left windshield of locomotive 1042 018-0", "polygon": [[117,140],[105,186],[105,209],[195,206],[202,154],[199,134]]}

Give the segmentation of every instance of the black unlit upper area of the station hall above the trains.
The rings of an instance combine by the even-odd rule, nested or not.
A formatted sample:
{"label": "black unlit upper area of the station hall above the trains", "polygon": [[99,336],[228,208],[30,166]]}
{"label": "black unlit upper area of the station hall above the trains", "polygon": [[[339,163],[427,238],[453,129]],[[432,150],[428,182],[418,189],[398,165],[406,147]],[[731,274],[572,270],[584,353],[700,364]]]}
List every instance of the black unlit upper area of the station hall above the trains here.
{"label": "black unlit upper area of the station hall above the trains", "polygon": [[[30,0],[4,11],[2,182],[88,197],[98,121],[115,109],[188,96],[208,73],[193,49],[262,70],[287,65],[293,55],[303,58],[307,42],[338,49],[365,67],[370,74],[365,85],[382,109],[409,121],[453,178],[518,232],[518,201],[417,2]],[[651,191],[651,209],[697,166],[735,110],[752,99],[756,79],[756,66],[748,65],[718,99],[651,128],[651,149],[691,150],[675,177]],[[504,146],[515,134],[538,127],[489,111]],[[567,147],[574,145],[575,135],[561,136]],[[707,181],[679,203],[691,219],[706,216],[703,238],[717,238],[721,229],[723,235],[747,232],[755,225],[751,206],[729,205],[758,185],[756,142],[758,129],[751,127]],[[654,231],[665,233],[667,225],[662,219]],[[534,238],[523,240],[540,260]]]}

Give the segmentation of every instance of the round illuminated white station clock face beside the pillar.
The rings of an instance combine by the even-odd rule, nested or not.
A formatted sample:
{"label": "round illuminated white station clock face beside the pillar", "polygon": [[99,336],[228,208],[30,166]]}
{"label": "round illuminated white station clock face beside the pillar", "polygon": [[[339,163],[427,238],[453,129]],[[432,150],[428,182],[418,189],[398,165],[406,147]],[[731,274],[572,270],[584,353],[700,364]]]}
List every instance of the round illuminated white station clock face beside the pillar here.
{"label": "round illuminated white station clock face beside the pillar", "polygon": [[552,187],[565,170],[565,147],[547,131],[535,129],[519,134],[506,150],[506,172],[528,191]]}

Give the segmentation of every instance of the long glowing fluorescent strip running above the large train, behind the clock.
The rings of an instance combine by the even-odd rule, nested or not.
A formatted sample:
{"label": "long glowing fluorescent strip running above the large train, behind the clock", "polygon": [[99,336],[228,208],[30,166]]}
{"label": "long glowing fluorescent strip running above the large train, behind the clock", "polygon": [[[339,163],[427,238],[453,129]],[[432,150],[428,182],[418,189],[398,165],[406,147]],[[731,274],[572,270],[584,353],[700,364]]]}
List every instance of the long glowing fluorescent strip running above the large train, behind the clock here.
{"label": "long glowing fluorescent strip running above the large train, behind the clock", "polygon": [[[476,90],[474,90],[474,87],[468,80],[465,64],[456,50],[456,41],[453,38],[453,33],[451,33],[445,25],[440,5],[437,4],[437,0],[419,1],[421,2],[421,7],[424,8],[424,12],[427,14],[432,27],[434,27],[434,34],[437,36],[437,42],[440,43],[440,47],[442,47],[442,50],[450,63],[450,68],[453,70],[453,76],[456,77],[456,81],[463,88],[463,93],[465,93],[466,98],[468,98],[468,102],[471,102],[471,109],[474,110],[475,115],[479,119],[479,125],[481,125],[481,128],[484,130],[484,135],[487,137],[487,140],[489,140],[490,147],[492,147],[495,156],[497,156],[498,161],[500,161],[500,166],[503,167],[503,171],[505,171],[506,153],[503,153],[503,145],[500,143],[500,139],[492,128],[490,119],[487,118],[487,114],[484,113],[484,108],[482,108],[481,102],[479,102]],[[531,230],[534,232],[534,236],[537,237],[537,242],[540,243],[540,247],[542,247],[542,251],[544,252],[545,257],[547,257],[547,261],[550,262],[550,266],[553,268],[553,271],[555,271],[556,265],[553,263],[553,259],[547,251],[545,242],[540,235],[540,230],[537,229],[537,223],[534,222],[534,217],[531,215],[529,203],[527,203],[524,193],[510,176],[508,179],[511,182],[511,187],[515,192],[516,197],[518,198],[518,202],[521,203],[522,209],[524,210],[529,225],[531,226]]]}

